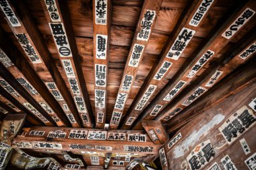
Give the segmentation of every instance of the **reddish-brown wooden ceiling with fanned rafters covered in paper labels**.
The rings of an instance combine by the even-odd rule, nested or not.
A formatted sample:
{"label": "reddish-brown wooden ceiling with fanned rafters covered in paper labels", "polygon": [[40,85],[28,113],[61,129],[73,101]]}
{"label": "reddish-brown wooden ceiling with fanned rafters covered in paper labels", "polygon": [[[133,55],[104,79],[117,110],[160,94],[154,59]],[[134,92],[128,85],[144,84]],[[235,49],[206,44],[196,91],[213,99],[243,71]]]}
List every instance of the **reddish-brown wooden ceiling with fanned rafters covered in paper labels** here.
{"label": "reddish-brown wooden ceiling with fanned rafters covered in paper labels", "polygon": [[171,134],[256,77],[253,0],[0,7],[1,117],[26,113],[27,126],[144,130],[160,120]]}

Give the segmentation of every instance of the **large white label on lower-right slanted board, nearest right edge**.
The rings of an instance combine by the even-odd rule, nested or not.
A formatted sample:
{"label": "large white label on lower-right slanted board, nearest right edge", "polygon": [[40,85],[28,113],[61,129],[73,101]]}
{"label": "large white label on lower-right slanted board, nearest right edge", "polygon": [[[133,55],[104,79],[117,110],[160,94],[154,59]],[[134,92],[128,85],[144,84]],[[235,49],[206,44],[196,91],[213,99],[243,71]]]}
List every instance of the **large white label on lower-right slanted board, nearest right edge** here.
{"label": "large white label on lower-right slanted board, nearest right edge", "polygon": [[222,126],[220,126],[219,130],[228,144],[231,144],[241,134],[253,127],[255,123],[256,117],[253,115],[253,111],[244,105],[241,109],[229,116]]}

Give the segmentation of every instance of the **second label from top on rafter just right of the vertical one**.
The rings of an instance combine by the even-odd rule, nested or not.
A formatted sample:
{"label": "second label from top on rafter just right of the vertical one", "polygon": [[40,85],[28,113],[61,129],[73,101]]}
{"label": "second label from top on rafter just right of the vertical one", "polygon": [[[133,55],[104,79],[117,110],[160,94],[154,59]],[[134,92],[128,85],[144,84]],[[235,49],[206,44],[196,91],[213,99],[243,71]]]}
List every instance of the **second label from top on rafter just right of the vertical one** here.
{"label": "second label from top on rafter just right of the vertical one", "polygon": [[131,51],[131,57],[129,59],[129,66],[131,67],[138,67],[139,66],[139,60],[141,59],[141,55],[144,50],[143,45],[141,44],[134,44],[133,50]]}

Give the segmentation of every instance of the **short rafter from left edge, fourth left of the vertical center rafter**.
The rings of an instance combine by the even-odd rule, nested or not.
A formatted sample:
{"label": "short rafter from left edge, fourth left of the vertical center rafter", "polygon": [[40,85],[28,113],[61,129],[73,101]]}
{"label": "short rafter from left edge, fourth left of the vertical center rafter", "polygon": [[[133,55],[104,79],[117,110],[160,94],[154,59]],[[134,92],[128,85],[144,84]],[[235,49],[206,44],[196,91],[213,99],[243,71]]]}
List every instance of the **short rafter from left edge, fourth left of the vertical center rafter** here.
{"label": "short rafter from left edge, fourth left of the vertical center rafter", "polygon": [[[9,83],[11,83],[12,85],[10,85]],[[7,81],[0,76],[0,86],[3,87],[3,89],[5,89],[5,91],[7,91],[10,95],[12,95],[12,97],[22,103],[22,105],[24,105],[30,111],[30,113],[32,113],[33,116],[39,118],[40,122],[43,122],[46,126],[53,126],[55,124],[51,117],[46,114],[46,112],[40,107],[38,103],[36,103],[36,101],[34,101],[34,99],[28,94],[28,92],[22,87],[22,85],[18,84],[18,82],[15,82],[14,79],[11,79],[9,83],[7,83]],[[19,93],[15,89],[13,89],[13,85],[15,85],[15,89],[17,89]],[[24,96],[26,97],[26,99],[24,98]],[[38,110],[40,112],[38,112]]]}

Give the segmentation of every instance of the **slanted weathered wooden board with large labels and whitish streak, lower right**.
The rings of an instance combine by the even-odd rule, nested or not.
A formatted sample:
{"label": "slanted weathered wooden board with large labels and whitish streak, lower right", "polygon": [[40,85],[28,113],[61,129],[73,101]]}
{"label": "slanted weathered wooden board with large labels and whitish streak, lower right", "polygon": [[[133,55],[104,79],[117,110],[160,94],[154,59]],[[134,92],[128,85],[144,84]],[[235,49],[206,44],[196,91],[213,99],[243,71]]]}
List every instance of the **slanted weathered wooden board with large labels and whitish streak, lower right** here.
{"label": "slanted weathered wooden board with large labels and whitish streak, lower right", "polygon": [[[198,116],[174,134],[174,138],[164,144],[168,168],[188,169],[190,167],[191,169],[193,159],[198,158],[200,151],[203,153],[203,157],[195,165],[197,168],[194,169],[210,166],[216,160],[220,165],[221,163],[217,158],[224,157],[226,152],[231,154],[230,157],[237,157],[243,162],[253,155],[256,151],[254,144],[256,138],[252,137],[256,130],[255,110],[253,110],[255,107],[255,103],[253,103],[256,95],[255,87],[256,84],[236,93],[203,115]],[[250,105],[254,107],[251,108]],[[240,126],[235,126],[235,124]],[[231,126],[234,131],[230,133],[230,128],[227,127]],[[180,134],[179,138],[177,138],[178,134]],[[249,155],[245,155],[243,145],[239,142],[243,138],[251,149]],[[207,150],[205,150],[205,146],[207,146]],[[236,148],[234,149],[233,146]],[[203,163],[202,160],[204,160]],[[245,163],[237,161],[238,159],[234,160],[236,160],[233,163],[237,169],[245,169],[247,166]]]}

